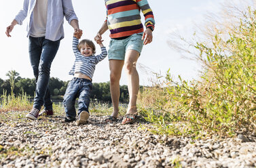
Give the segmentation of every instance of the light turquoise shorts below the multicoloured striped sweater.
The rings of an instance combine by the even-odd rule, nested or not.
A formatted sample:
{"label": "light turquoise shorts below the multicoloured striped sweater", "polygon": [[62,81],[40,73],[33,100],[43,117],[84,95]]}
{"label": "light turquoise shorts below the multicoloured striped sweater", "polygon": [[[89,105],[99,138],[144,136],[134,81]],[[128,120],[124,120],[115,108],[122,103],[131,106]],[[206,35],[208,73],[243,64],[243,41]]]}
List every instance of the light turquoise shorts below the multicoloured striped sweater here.
{"label": "light turquoise shorts below the multicoloured striped sweater", "polygon": [[143,33],[136,33],[126,39],[111,39],[109,43],[109,60],[124,60],[126,51],[133,49],[141,54]]}

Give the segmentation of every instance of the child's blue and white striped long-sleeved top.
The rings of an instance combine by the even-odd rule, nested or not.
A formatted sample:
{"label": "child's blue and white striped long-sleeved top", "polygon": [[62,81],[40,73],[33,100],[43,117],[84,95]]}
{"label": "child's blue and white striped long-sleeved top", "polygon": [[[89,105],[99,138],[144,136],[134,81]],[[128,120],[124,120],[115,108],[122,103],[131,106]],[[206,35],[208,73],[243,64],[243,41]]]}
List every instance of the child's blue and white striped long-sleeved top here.
{"label": "child's blue and white striped long-sleeved top", "polygon": [[94,74],[95,66],[107,56],[106,47],[101,47],[101,54],[98,56],[83,56],[77,49],[79,40],[73,37],[73,52],[75,54],[75,62],[71,68],[69,75],[74,75],[75,72],[80,72],[92,79]]}

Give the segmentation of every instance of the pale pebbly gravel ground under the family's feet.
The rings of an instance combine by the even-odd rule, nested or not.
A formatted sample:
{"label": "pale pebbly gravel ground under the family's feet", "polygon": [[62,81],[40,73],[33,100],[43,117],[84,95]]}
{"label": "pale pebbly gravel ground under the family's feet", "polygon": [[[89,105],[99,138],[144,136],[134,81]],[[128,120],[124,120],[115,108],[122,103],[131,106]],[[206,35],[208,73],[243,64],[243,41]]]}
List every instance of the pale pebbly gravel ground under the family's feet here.
{"label": "pale pebbly gravel ground under the family's feet", "polygon": [[154,135],[143,119],[132,125],[37,121],[25,112],[0,114],[0,167],[256,167],[256,138],[191,138]]}

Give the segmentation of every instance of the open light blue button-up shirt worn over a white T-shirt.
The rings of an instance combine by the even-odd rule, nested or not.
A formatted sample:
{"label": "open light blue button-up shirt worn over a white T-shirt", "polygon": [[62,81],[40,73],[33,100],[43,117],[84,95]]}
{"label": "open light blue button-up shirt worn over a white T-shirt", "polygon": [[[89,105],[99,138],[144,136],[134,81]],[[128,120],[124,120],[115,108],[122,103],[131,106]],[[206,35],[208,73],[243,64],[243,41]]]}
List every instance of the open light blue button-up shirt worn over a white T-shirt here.
{"label": "open light blue button-up shirt worn over a white T-shirt", "polygon": [[[29,37],[31,33],[31,23],[33,22],[32,15],[35,3],[36,0],[24,0],[23,9],[21,9],[15,17],[15,20],[21,25],[26,16],[29,16],[28,25],[26,27],[26,31],[28,32],[27,37]],[[45,39],[57,41],[64,38],[64,16],[69,24],[71,20],[78,20],[73,9],[72,1],[48,0]]]}

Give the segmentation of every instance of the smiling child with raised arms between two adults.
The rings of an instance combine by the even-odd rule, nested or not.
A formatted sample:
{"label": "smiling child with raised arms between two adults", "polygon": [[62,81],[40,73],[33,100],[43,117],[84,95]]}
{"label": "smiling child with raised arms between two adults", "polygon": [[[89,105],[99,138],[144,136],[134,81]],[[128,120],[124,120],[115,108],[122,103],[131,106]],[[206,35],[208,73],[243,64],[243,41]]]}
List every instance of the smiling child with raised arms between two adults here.
{"label": "smiling child with raised arms between two adults", "polygon": [[95,66],[107,56],[106,47],[103,43],[97,42],[101,47],[101,54],[94,56],[95,45],[92,41],[84,39],[78,43],[82,35],[81,30],[77,30],[73,35],[73,51],[75,62],[69,75],[73,79],[69,82],[64,96],[65,122],[75,121],[75,99],[78,98],[78,119],[76,125],[85,124],[89,118],[90,93],[92,91],[92,76]]}

